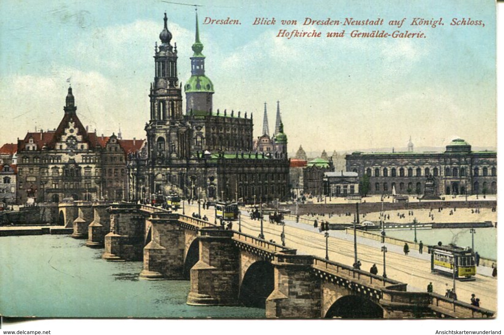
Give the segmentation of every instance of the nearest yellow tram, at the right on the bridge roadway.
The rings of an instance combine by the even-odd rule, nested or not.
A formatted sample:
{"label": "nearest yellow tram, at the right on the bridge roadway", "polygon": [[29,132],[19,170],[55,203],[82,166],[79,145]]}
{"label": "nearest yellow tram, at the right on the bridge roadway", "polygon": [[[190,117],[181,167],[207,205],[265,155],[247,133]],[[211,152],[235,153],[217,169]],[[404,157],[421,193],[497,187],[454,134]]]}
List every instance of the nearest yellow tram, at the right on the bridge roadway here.
{"label": "nearest yellow tram, at the right on the bridge roadway", "polygon": [[450,244],[431,246],[429,251],[432,273],[446,276],[454,276],[455,273],[455,279],[460,281],[474,280],[472,277],[476,275],[476,263],[471,249]]}

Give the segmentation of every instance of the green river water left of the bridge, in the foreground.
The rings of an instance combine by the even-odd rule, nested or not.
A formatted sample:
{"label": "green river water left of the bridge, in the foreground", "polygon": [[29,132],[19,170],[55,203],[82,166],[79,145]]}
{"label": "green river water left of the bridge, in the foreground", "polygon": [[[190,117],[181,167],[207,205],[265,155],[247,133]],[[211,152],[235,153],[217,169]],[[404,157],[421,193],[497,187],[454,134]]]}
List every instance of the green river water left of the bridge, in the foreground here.
{"label": "green river water left of the bridge, in the foreground", "polygon": [[0,315],[261,318],[250,307],[189,306],[189,281],[139,280],[142,262],[107,262],[67,235],[0,237]]}

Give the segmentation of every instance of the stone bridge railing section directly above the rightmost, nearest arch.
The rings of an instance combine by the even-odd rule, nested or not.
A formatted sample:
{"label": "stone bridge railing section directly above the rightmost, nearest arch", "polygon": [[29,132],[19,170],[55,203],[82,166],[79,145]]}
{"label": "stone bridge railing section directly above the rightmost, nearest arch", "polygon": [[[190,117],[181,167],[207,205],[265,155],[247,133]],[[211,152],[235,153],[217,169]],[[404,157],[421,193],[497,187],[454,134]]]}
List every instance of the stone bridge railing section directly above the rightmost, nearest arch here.
{"label": "stone bridge railing section directly above the rightmost, nearest arch", "polygon": [[356,280],[368,282],[369,284],[387,286],[387,289],[389,290],[406,291],[406,286],[408,285],[393,279],[372,275],[367,271],[354,269],[353,266],[328,260],[322,257],[313,256],[313,265],[317,266],[317,269],[320,269],[320,267],[322,266],[323,268],[332,271],[333,273],[349,276]]}

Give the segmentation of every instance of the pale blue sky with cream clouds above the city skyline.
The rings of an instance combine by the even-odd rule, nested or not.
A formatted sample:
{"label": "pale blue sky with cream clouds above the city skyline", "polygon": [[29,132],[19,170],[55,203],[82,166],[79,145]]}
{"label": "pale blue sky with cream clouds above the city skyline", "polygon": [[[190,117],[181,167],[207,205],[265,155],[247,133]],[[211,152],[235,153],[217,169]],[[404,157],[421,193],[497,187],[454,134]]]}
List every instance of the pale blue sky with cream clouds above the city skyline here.
{"label": "pale blue sky with cream clouds above the city skyline", "polygon": [[[464,138],[494,147],[495,5],[493,1],[200,1],[206,71],[214,109],[254,113],[261,135],[264,102],[274,125],[280,100],[289,152],[444,146]],[[57,126],[66,79],[81,120],[110,135],[145,138],[154,42],[168,15],[178,48],[179,80],[190,77],[194,8],[162,1],[9,1],[0,5],[0,143],[23,138],[35,124]],[[203,25],[205,17],[238,19],[238,26]],[[252,25],[256,17],[274,26]],[[318,20],[383,18],[380,30],[421,30],[424,39],[276,37],[280,29],[323,33],[374,27],[304,27]],[[402,20],[400,29],[388,21]],[[409,26],[438,19],[437,28]],[[450,26],[453,18],[485,27]],[[282,26],[281,19],[298,20]],[[270,129],[272,132],[273,129]]]}

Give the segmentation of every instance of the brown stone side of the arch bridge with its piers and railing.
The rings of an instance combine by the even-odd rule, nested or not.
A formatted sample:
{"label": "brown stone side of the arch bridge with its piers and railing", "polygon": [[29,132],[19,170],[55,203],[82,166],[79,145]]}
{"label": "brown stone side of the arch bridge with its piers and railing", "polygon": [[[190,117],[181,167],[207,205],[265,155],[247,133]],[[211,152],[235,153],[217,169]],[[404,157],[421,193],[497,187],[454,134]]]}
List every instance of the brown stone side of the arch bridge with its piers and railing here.
{"label": "brown stone side of the arch bridge with its piers and railing", "polygon": [[108,261],[143,261],[140,278],[191,280],[187,304],[264,307],[279,318],[493,317],[443,296],[212,223],[130,203],[59,204],[72,237]]}

